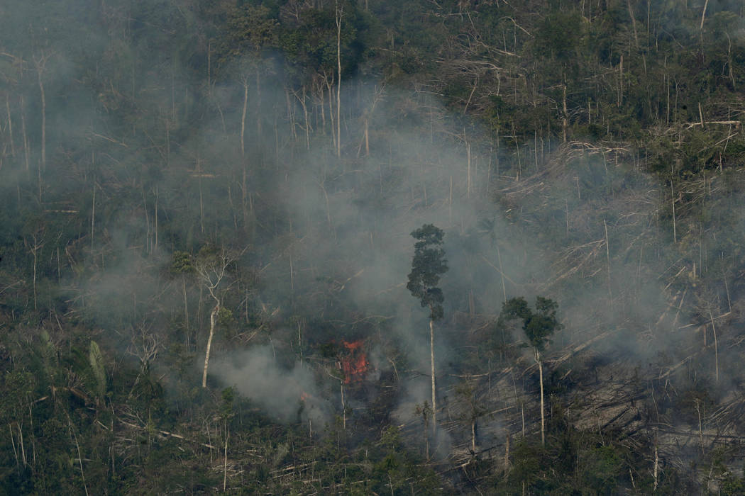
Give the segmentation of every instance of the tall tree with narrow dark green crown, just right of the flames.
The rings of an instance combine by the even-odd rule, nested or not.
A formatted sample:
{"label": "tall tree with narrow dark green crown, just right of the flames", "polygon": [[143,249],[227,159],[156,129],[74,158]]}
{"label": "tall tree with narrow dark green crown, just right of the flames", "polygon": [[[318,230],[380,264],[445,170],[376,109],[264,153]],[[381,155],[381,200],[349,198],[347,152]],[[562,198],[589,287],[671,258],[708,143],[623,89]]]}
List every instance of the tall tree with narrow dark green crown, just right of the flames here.
{"label": "tall tree with narrow dark green crown, just right of the flames", "polygon": [[434,384],[434,321],[445,315],[443,310],[443,290],[437,287],[440,276],[448,271],[448,260],[445,258],[442,229],[432,224],[422,225],[411,233],[414,243],[414,257],[411,262],[409,282],[406,285],[413,297],[429,309],[429,352],[432,375],[432,432],[437,432],[437,403],[435,402]]}

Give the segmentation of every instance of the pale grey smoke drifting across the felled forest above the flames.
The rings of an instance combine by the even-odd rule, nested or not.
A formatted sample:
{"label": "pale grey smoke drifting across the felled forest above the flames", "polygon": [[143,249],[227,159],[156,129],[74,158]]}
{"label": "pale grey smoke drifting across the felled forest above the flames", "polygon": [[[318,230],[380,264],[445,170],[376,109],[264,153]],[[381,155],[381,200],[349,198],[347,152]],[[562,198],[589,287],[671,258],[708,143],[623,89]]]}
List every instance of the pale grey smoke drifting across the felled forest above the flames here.
{"label": "pale grey smoke drifting across the felled forest above the flames", "polygon": [[[73,4],[83,9],[82,2],[59,7]],[[6,152],[0,177],[5,184],[22,178],[18,191],[4,187],[4,202],[16,195],[28,202],[22,210],[45,211],[51,226],[79,233],[67,242],[67,255],[63,245],[61,257],[76,270],[61,282],[76,315],[104,329],[122,355],[133,355],[137,346],[140,334],[133,329],[163,333],[160,355],[168,353],[160,329],[184,313],[180,279],[169,271],[172,254],[196,254],[209,242],[247,248],[241,270],[253,271],[257,281],[250,288],[223,287],[231,294],[226,307],[233,320],[228,330],[218,329],[211,379],[235,385],[288,422],[329,421],[339,413],[335,361],[301,364],[301,357],[311,347],[358,338],[369,338],[377,373],[390,372],[395,361],[388,353],[395,349],[402,384],[393,415],[401,422],[416,418],[415,406],[428,399],[428,312],[405,285],[410,232],[425,223],[445,230],[450,268],[442,280],[446,318],[435,337],[441,392],[456,381],[469,352],[462,346],[466,324],[495,318],[505,297],[525,296],[531,304],[536,295],[557,300],[565,329],[548,346],[549,362],[603,335],[593,352],[654,364],[663,373],[703,344],[705,322],[689,326],[692,315],[704,306],[712,320],[727,312],[725,282],[726,292],[741,291],[738,274],[715,263],[716,217],[676,225],[677,242],[694,228],[701,231],[700,260],[679,256],[670,184],[636,170],[632,150],[579,141],[539,143],[536,150],[531,142],[521,147],[517,163],[509,144],[503,141],[497,151],[493,138],[437,97],[349,79],[341,85],[339,160],[328,100],[323,127],[320,102],[308,95],[314,129],[306,138],[299,94],[291,93],[281,60],[262,69],[260,94],[250,60],[212,67],[206,86],[188,50],[204,39],[174,40],[166,29],[177,19],[199,25],[196,13],[153,7],[162,8],[162,18],[145,25],[136,19],[150,16],[146,7],[141,13],[98,2],[89,7],[83,9],[90,23],[82,45],[67,40],[69,33],[42,27],[43,20],[35,24],[32,7],[0,7],[0,16],[14,14],[3,26],[17,26],[14,39],[0,35],[0,96],[16,137],[23,115],[31,164],[27,171],[21,149],[13,158]],[[97,14],[109,20],[108,29],[99,27]],[[138,36],[142,47],[124,51],[121,40]],[[111,72],[107,62],[122,58],[130,59],[130,74]],[[95,59],[98,72],[83,70],[83,59]],[[45,164],[38,77],[45,89]],[[243,81],[249,97],[241,153]],[[120,109],[133,106],[141,118],[122,120]],[[719,181],[709,187],[716,190]],[[743,213],[731,215],[742,228]],[[46,235],[53,237],[53,229]],[[562,248],[549,248],[556,246]],[[57,264],[51,260],[45,261],[50,274]],[[721,274],[711,275],[715,271]],[[711,285],[711,300],[676,290],[676,281],[702,273],[721,281]],[[193,359],[185,370],[193,374],[203,363],[212,307],[195,280],[188,285],[190,310],[200,313],[183,344]],[[249,314],[261,315],[264,326],[246,339],[257,326]],[[302,322],[300,338],[291,318]],[[334,328],[317,326],[323,319],[335,321]],[[719,353],[720,376],[729,376],[734,364],[726,347]],[[713,357],[698,359],[711,367]],[[177,381],[174,370],[159,367]],[[489,422],[487,430],[502,428],[498,419]],[[448,442],[438,440],[440,449]]]}

